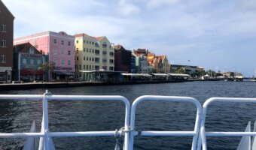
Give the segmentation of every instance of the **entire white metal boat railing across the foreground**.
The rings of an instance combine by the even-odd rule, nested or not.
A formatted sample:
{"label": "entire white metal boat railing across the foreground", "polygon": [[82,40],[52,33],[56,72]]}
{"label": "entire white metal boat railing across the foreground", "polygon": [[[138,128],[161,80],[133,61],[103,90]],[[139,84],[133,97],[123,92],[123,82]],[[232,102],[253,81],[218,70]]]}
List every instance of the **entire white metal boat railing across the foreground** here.
{"label": "entire white metal boat railing across the foreground", "polygon": [[[50,95],[49,92],[44,95],[0,95],[0,100],[15,100],[15,101],[42,101],[43,103],[43,120],[41,125],[41,132],[39,133],[0,133],[0,138],[28,138],[40,137],[39,148],[45,150],[50,148],[50,137],[64,137],[64,136],[122,136],[124,133],[123,149],[133,150],[133,141],[135,136],[193,136],[192,150],[207,149],[206,136],[256,136],[256,132],[206,132],[205,121],[206,111],[209,104],[212,102],[231,102],[231,103],[245,103],[256,102],[256,98],[210,98],[201,104],[194,98],[190,97],[173,97],[173,96],[141,96],[137,98],[132,107],[130,102],[122,96],[89,96],[89,95]],[[120,130],[110,131],[81,131],[81,132],[50,132],[48,127],[48,104],[47,101],[122,101],[125,104],[125,121],[124,127]],[[186,102],[194,104],[197,107],[196,120],[194,130],[188,131],[157,131],[157,130],[143,130],[136,131],[135,118],[136,107],[142,101],[169,101],[169,102]],[[131,111],[131,112],[130,112]],[[45,140],[46,139],[46,140]]]}

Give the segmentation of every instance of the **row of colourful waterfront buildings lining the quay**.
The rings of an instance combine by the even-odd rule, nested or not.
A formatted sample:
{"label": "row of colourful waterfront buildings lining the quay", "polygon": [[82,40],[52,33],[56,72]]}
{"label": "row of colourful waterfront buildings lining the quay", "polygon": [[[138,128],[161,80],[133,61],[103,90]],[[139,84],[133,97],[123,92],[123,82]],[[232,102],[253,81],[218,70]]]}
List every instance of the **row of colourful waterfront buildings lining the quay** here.
{"label": "row of colourful waterfront buildings lining the quay", "polygon": [[[0,81],[12,80],[92,80],[92,71],[133,74],[171,72],[166,55],[148,49],[125,49],[107,37],[70,35],[65,31],[44,31],[14,39],[14,16],[0,1]],[[37,71],[45,63],[53,63]],[[106,74],[102,74],[105,78]]]}

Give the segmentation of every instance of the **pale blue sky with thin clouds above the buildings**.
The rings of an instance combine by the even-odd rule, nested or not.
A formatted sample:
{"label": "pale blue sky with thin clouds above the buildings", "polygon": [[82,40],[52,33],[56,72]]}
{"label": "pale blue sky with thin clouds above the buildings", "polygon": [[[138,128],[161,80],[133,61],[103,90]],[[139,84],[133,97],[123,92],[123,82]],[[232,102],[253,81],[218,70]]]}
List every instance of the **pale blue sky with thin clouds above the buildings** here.
{"label": "pale blue sky with thin clouds above the buildings", "polygon": [[171,65],[256,74],[255,0],[2,0],[14,38],[43,31],[106,36]]}

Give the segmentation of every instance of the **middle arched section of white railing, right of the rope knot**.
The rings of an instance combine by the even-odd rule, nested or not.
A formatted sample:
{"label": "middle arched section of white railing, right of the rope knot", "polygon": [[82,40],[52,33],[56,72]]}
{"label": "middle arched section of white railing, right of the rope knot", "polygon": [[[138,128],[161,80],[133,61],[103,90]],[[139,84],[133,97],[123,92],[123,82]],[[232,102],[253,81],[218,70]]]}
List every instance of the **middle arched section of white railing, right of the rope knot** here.
{"label": "middle arched section of white railing, right of the rope knot", "polygon": [[[174,96],[141,96],[137,98],[132,105],[131,115],[130,115],[130,130],[135,130],[135,115],[136,115],[136,107],[142,101],[180,101],[180,102],[190,102],[197,107],[197,118],[195,121],[194,131],[141,131],[141,136],[193,136],[192,142],[192,150],[197,148],[197,138],[199,135],[199,128],[200,128],[200,120],[201,120],[201,113],[202,107],[199,101],[194,98],[190,97],[174,97]],[[133,140],[134,136],[136,136],[138,132],[132,131],[130,133],[130,142],[129,147],[130,150],[133,150]]]}

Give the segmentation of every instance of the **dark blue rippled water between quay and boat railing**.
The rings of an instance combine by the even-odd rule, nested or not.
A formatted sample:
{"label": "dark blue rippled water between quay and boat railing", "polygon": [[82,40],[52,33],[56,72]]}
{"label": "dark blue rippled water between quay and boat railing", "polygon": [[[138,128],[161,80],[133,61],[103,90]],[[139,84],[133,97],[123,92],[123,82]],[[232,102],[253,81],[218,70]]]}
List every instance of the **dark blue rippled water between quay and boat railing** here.
{"label": "dark blue rippled water between quay and boat railing", "polygon": [[[42,94],[45,89],[8,91],[0,94]],[[94,86],[50,89],[53,95],[122,95],[132,103],[141,95],[189,96],[203,104],[212,97],[256,98],[256,83],[193,82],[129,86]],[[212,104],[206,131],[243,131],[256,120],[256,104]],[[142,102],[136,111],[136,130],[194,130],[194,105]],[[28,131],[33,120],[41,128],[41,101],[1,101],[0,132]],[[123,127],[121,102],[50,101],[50,131],[115,130]],[[209,149],[236,149],[239,137],[207,138]],[[20,149],[25,139],[1,139],[0,149]],[[56,149],[114,149],[114,137],[54,138]],[[122,141],[120,141],[122,142]],[[192,137],[136,137],[134,149],[190,149]]]}

